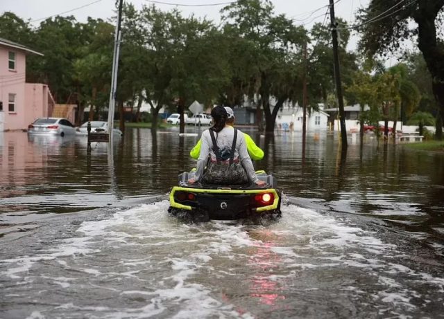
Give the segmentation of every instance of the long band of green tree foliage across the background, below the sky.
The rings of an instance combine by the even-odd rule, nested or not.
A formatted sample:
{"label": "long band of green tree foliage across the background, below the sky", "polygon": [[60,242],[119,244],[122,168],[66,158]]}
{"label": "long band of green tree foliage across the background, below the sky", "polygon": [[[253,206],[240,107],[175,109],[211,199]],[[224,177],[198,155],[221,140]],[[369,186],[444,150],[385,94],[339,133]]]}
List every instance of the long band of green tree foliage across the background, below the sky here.
{"label": "long band of green tree foliage across the background, below the sky", "polygon": [[[121,23],[118,102],[145,100],[154,120],[161,107],[176,111],[194,100],[239,105],[247,96],[258,102],[267,130],[284,101],[302,104],[307,70],[310,102],[325,101],[334,92],[330,26],[311,30],[285,15],[276,15],[268,0],[239,0],[222,10],[223,23],[183,17],[156,6],[136,10],[126,3]],[[339,19],[339,26],[345,22]],[[52,17],[37,28],[11,12],[0,16],[0,37],[44,53],[28,56],[27,75],[44,82],[60,103],[108,105],[114,25],[89,18]],[[351,84],[357,57],[345,51],[350,33],[341,31],[343,82]],[[307,46],[307,64],[303,48]],[[278,104],[270,105],[271,98]],[[272,111],[273,110],[273,111]]]}

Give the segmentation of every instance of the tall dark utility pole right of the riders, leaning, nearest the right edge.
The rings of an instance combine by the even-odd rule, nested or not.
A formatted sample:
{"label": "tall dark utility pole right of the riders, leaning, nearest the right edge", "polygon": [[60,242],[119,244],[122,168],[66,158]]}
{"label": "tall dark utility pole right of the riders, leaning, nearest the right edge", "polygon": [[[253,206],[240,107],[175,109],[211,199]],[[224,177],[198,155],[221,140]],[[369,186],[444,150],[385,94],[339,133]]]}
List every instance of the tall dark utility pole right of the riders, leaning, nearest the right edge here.
{"label": "tall dark utility pole right of the riders, leaning, nearest the right edge", "polygon": [[336,97],[339,105],[339,122],[341,124],[341,143],[343,150],[347,149],[347,132],[345,131],[345,112],[344,100],[342,96],[341,72],[339,69],[339,54],[338,54],[338,32],[336,30],[336,21],[334,18],[334,3],[330,0],[330,21],[333,37],[333,59],[334,59],[334,82],[336,83]]}

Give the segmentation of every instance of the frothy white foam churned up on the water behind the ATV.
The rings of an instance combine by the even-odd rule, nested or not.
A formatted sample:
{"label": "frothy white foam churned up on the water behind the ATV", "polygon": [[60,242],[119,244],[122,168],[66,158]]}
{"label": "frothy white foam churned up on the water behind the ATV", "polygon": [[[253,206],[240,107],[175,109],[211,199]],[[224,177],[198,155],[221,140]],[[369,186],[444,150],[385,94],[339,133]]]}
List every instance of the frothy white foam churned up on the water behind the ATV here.
{"label": "frothy white foam churned up on the water behind the ATV", "polygon": [[[418,285],[427,283],[439,291],[444,289],[443,278],[394,262],[403,255],[397,246],[385,243],[377,233],[363,230],[346,219],[289,205],[282,206],[280,221],[266,227],[219,222],[188,225],[169,216],[168,207],[169,201],[160,201],[115,212],[108,219],[84,221],[76,237],[60,240],[53,248],[35,256],[0,261],[3,266],[8,265],[2,275],[18,279],[28,275],[35,263],[55,261],[61,268],[80,271],[85,278],[114,276],[147,280],[149,288],[145,291],[112,286],[112,283],[110,286],[90,284],[122,296],[143,296],[147,298],[144,307],[129,308],[121,304],[117,309],[110,309],[75,303],[60,306],[67,310],[100,311],[100,318],[149,318],[163,316],[167,311],[170,318],[253,318],[248,311],[237,311],[234,304],[216,299],[217,292],[206,286],[205,281],[198,280],[203,273],[214,273],[222,276],[223,286],[223,276],[237,275],[237,267],[267,268],[270,273],[262,277],[276,286],[285,286],[285,282],[294,280],[298,271],[308,275],[317,270],[335,269],[368,272],[368,277],[375,277],[377,282],[373,298],[405,309],[414,309],[413,298],[421,296],[415,289],[406,289],[406,278]],[[114,252],[126,254],[113,259]],[[266,258],[266,254],[272,258]],[[83,259],[88,262],[82,263]],[[123,269],[110,272],[100,263],[90,262],[94,259],[115,260]],[[241,264],[233,264],[239,260]],[[279,273],[272,273],[277,266]],[[139,272],[151,269],[164,273],[162,278],[148,284],[149,278],[140,277]],[[404,281],[396,279],[400,274]],[[69,289],[69,284],[73,284],[67,277],[47,279],[61,289]],[[322,287],[307,289],[317,291]],[[354,284],[343,290],[364,293],[365,287]]]}

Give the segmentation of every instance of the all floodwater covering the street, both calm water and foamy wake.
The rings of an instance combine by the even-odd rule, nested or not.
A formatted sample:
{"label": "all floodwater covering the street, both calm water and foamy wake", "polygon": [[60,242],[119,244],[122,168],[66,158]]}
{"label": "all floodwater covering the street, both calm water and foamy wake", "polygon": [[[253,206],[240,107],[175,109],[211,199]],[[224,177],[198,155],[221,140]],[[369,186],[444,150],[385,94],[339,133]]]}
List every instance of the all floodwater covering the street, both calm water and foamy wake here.
{"label": "all floodwater covering the street, both calm water and foamy wake", "polygon": [[443,154],[246,131],[284,194],[266,225],[169,216],[198,139],[176,128],[113,156],[0,134],[0,318],[443,318]]}

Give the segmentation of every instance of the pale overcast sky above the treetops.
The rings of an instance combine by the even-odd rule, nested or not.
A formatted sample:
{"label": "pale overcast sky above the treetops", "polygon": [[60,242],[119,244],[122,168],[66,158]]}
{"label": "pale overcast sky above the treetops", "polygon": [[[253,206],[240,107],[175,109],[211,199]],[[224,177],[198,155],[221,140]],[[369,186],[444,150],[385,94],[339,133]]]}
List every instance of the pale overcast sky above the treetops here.
{"label": "pale overcast sky above the treetops", "polygon": [[[147,0],[124,0],[127,3],[133,3],[135,8],[140,9],[142,5],[152,3]],[[178,3],[184,5],[202,5],[214,3],[227,3],[230,0],[159,0],[164,3]],[[334,10],[336,17],[342,17],[349,24],[355,21],[355,12],[358,8],[367,6],[369,0],[339,0]],[[328,0],[272,0],[275,6],[275,13],[284,13],[287,17],[295,20],[296,24],[304,24],[305,28],[310,29],[316,22],[323,22],[325,12],[327,11]],[[171,10],[175,6],[155,3],[162,10]],[[83,8],[80,8],[82,7]],[[115,0],[0,0],[0,11],[12,11],[19,17],[33,22],[38,26],[40,19],[52,15],[74,15],[77,21],[85,22],[87,17],[101,18],[108,20],[114,15]],[[183,15],[189,16],[192,13],[198,17],[207,17],[213,21],[219,22],[220,12],[223,6],[178,6]],[[72,10],[72,11],[71,11]],[[314,12],[314,10],[317,10]],[[71,11],[71,12],[67,12]],[[66,13],[64,13],[66,12]],[[330,15],[328,16],[330,17]],[[330,21],[330,20],[328,20]],[[350,40],[350,49],[354,49],[357,39],[352,37]]]}

